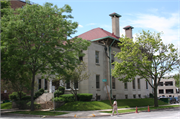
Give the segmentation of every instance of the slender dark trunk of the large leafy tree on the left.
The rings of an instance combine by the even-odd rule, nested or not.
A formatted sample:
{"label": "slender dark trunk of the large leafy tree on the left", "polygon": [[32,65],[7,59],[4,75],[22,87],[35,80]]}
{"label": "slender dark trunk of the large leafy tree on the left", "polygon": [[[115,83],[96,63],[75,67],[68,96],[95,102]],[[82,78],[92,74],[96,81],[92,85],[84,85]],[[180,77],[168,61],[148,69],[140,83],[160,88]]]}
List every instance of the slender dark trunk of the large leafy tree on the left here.
{"label": "slender dark trunk of the large leafy tree on the left", "polygon": [[33,72],[33,77],[31,82],[31,111],[34,111],[34,80],[35,80],[35,73]]}

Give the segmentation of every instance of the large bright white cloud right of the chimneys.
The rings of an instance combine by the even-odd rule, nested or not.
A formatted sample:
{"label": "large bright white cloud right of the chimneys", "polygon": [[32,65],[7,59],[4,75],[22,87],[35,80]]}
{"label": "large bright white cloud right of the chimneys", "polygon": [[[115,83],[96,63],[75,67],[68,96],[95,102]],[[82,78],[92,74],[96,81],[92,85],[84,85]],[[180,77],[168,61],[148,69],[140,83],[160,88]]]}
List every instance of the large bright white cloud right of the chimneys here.
{"label": "large bright white cloud right of the chimneys", "polygon": [[178,19],[178,13],[172,13],[169,18],[150,14],[138,14],[137,19],[131,20],[131,24],[136,28],[153,29],[156,32],[163,31],[161,35],[163,42],[165,44],[173,43],[178,47]]}

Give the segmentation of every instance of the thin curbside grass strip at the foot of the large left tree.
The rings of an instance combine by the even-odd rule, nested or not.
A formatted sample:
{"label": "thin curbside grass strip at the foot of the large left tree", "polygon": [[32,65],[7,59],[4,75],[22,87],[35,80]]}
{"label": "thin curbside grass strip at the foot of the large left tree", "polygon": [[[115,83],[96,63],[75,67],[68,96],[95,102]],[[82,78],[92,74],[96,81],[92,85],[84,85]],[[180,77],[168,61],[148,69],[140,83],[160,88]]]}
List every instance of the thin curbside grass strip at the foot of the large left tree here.
{"label": "thin curbside grass strip at the foot of the large left tree", "polygon": [[9,113],[30,114],[30,115],[49,115],[49,116],[68,114],[66,112],[53,112],[53,111],[15,111],[15,112],[9,112]]}

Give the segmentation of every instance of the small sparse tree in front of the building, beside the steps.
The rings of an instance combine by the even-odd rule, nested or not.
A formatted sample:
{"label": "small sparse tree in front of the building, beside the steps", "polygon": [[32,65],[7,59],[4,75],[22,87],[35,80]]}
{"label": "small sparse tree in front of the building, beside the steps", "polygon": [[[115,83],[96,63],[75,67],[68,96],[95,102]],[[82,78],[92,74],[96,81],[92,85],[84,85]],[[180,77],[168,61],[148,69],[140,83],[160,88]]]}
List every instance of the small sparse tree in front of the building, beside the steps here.
{"label": "small sparse tree in front of the building, beside the steps", "polygon": [[[78,65],[74,70],[66,70],[68,75],[57,75],[56,80],[61,80],[63,84],[70,83],[71,93],[74,95],[75,100],[77,101],[77,89],[78,84],[81,81],[89,79],[90,74],[86,71],[87,66],[84,62]],[[65,85],[64,85],[65,86]]]}

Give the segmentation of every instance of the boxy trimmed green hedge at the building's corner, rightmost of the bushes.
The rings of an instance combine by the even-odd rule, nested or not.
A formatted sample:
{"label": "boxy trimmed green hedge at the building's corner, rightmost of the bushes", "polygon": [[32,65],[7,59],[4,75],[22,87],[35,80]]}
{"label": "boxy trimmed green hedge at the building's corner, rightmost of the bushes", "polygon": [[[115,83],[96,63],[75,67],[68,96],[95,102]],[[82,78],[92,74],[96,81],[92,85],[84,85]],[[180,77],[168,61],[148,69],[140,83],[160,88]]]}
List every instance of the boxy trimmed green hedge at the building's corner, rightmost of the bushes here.
{"label": "boxy trimmed green hedge at the building's corner, rightmost of the bushes", "polygon": [[90,93],[81,93],[81,94],[77,94],[77,98],[79,101],[91,101],[92,99],[92,94]]}

